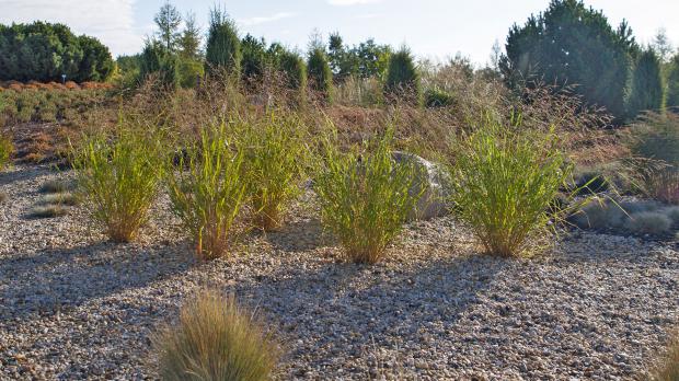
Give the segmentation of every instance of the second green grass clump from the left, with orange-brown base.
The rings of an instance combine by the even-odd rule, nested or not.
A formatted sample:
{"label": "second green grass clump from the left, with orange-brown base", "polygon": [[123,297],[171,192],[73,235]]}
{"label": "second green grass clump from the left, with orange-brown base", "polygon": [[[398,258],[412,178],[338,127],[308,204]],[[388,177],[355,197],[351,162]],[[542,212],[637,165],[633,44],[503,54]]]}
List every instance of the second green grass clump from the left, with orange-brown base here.
{"label": "second green grass clump from the left, with orange-brown base", "polygon": [[248,201],[243,151],[228,136],[228,127],[221,122],[203,128],[200,141],[180,160],[180,168],[187,171],[168,176],[173,211],[204,259],[227,253],[235,219]]}

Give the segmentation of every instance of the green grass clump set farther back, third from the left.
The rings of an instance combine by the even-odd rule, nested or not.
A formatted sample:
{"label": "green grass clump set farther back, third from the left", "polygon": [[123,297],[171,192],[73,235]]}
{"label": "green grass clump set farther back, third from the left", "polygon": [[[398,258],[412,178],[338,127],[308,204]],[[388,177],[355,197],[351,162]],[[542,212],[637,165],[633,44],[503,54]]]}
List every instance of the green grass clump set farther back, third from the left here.
{"label": "green grass clump set farther back, third from the left", "polygon": [[249,178],[255,224],[263,230],[281,224],[288,204],[298,196],[304,172],[306,127],[295,115],[272,113],[239,131],[243,172]]}

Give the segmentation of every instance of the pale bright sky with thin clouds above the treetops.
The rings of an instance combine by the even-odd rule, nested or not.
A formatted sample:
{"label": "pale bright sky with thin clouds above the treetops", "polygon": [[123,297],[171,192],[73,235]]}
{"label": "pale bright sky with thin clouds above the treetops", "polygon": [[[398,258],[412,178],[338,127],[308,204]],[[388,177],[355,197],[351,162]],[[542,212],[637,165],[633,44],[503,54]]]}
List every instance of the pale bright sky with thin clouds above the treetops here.
{"label": "pale bright sky with thin clouds above the treetops", "polygon": [[[164,0],[0,0],[0,23],[35,20],[68,24],[100,38],[114,56],[141,50]],[[549,0],[172,0],[182,14],[194,12],[207,30],[208,13],[222,4],[241,34],[263,36],[303,50],[318,30],[340,32],[346,43],[367,38],[407,45],[421,58],[444,60],[460,53],[476,65],[488,61],[495,41],[509,27],[546,9]],[[636,39],[648,43],[660,27],[679,46],[677,0],[586,0],[613,25],[626,19]]]}

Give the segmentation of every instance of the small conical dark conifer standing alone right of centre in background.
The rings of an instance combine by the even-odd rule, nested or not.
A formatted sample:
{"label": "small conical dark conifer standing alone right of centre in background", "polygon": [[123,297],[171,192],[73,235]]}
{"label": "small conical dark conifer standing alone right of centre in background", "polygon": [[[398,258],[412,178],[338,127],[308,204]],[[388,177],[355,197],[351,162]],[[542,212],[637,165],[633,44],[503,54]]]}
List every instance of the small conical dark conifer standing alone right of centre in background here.
{"label": "small conical dark conifer standing alone right of centre in background", "polygon": [[410,102],[418,103],[419,92],[419,73],[411,50],[404,47],[391,55],[384,93],[391,96],[405,96]]}

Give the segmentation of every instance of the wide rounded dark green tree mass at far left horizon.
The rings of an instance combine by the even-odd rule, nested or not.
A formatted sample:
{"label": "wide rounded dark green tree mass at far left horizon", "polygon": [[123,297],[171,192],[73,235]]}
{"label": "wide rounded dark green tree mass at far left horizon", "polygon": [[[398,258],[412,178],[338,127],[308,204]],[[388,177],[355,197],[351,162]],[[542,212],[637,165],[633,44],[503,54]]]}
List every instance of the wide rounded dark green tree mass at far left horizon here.
{"label": "wide rounded dark green tree mass at far left horizon", "polygon": [[76,36],[62,24],[0,25],[0,80],[105,81],[114,71],[108,48],[96,38]]}

